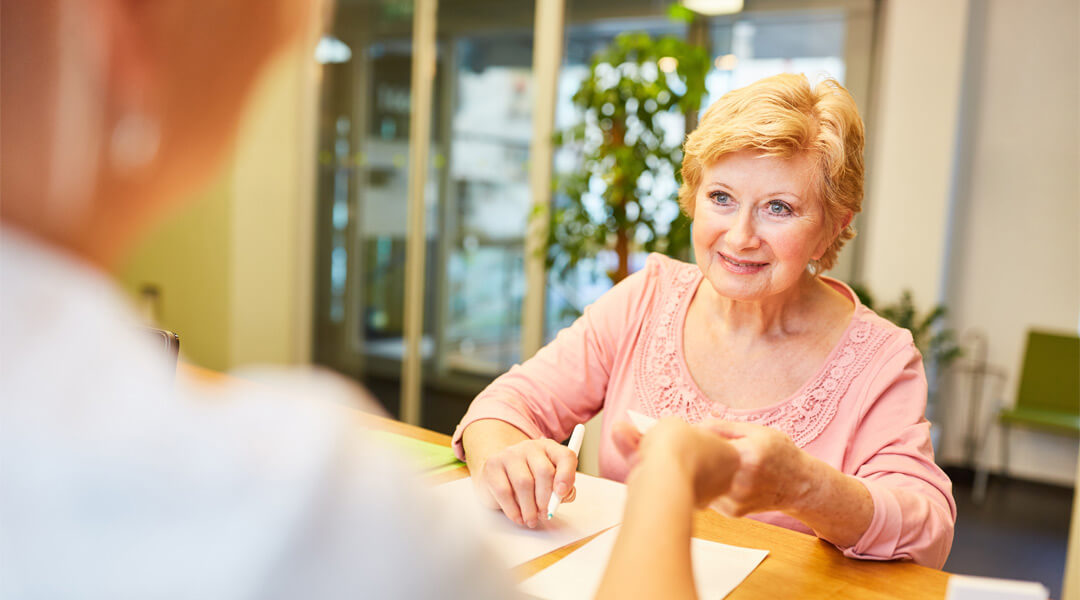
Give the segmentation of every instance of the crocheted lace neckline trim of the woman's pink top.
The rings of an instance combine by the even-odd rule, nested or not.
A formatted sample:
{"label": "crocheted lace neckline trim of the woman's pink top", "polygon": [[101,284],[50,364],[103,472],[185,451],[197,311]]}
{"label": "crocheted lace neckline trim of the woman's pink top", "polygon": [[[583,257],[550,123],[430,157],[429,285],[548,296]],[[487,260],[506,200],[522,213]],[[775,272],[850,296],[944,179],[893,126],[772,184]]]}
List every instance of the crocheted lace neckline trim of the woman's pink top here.
{"label": "crocheted lace neckline trim of the woman's pink top", "polygon": [[728,408],[701,392],[683,355],[686,314],[701,283],[701,271],[694,264],[672,261],[672,265],[673,272],[661,285],[658,312],[646,327],[640,350],[634,356],[635,392],[640,408],[651,417],[676,415],[690,423],[724,419],[768,425],[804,447],[832,422],[851,381],[888,338],[888,331],[865,318],[865,310],[852,294],[855,311],[840,341],[797,392],[764,408]]}

